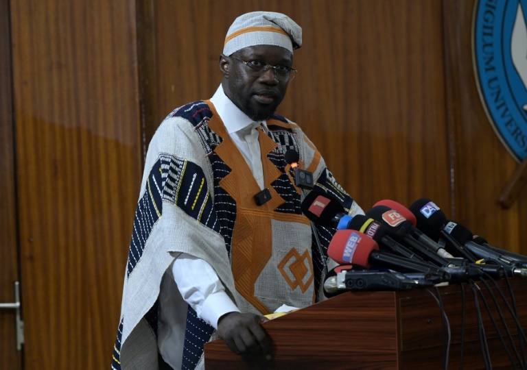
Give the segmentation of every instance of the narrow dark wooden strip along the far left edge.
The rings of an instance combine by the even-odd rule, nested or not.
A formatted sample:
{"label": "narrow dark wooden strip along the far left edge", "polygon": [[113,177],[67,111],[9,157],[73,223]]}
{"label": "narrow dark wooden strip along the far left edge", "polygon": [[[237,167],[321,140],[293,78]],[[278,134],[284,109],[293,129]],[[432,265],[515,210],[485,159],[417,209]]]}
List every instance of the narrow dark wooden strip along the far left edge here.
{"label": "narrow dark wooden strip along the far left edge", "polygon": [[[10,42],[9,1],[0,0],[0,303],[14,302],[19,280]],[[15,310],[0,310],[0,369],[21,369],[14,318]]]}

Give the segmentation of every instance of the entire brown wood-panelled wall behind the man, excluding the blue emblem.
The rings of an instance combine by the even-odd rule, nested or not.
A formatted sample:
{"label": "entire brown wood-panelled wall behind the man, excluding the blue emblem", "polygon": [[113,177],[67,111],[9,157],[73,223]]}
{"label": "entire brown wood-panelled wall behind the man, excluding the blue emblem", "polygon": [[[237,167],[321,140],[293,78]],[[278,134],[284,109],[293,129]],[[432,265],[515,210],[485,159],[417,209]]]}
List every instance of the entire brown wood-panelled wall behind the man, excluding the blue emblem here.
{"label": "entire brown wood-panelled wall behind the man, excluding the blue emblem", "polygon": [[[218,88],[224,36],[244,12],[303,27],[279,113],[364,210],[429,197],[527,254],[527,191],[498,202],[517,162],[476,88],[474,3],[0,0],[0,232],[21,267],[5,265],[0,299],[19,274],[26,367],[67,369],[79,353],[86,369],[109,366],[143,154],[169,112]],[[16,254],[1,245],[2,260]]]}

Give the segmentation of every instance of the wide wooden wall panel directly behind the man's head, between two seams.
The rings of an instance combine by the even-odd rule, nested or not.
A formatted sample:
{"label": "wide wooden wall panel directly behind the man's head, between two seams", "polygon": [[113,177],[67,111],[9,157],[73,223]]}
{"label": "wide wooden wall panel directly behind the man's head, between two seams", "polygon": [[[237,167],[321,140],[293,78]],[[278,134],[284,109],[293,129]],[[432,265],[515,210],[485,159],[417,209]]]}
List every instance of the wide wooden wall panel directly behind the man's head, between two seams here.
{"label": "wide wooden wall panel directly behind the man's head, between two seams", "polygon": [[[303,127],[329,168],[368,209],[430,197],[449,212],[441,2],[291,0],[155,2],[157,123],[208,99],[229,25],[248,11],[303,27],[298,74],[279,113]],[[153,131],[153,130],[150,130]]]}

